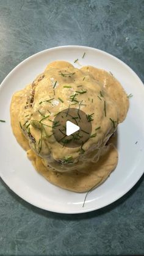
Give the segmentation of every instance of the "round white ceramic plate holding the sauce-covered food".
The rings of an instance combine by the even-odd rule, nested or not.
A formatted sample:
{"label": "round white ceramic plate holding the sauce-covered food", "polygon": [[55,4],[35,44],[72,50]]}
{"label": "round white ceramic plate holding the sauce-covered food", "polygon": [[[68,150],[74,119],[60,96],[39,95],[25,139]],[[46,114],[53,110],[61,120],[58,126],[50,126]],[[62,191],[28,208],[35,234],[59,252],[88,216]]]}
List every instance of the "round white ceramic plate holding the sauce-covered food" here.
{"label": "round white ceramic plate holding the sauce-covered food", "polygon": [[[84,59],[82,59],[85,53]],[[111,71],[127,93],[134,95],[126,120],[118,126],[117,168],[110,177],[90,194],[82,207],[85,193],[75,193],[51,185],[39,175],[26,152],[20,147],[10,127],[9,106],[12,95],[32,82],[53,60],[73,64],[93,65]],[[76,67],[79,67],[77,64]],[[121,60],[98,49],[85,46],[60,46],[34,54],[15,67],[0,87],[1,154],[0,174],[12,191],[39,208],[59,213],[84,213],[109,205],[123,196],[143,174],[144,170],[144,87],[139,77]],[[135,144],[137,142],[137,144]]]}

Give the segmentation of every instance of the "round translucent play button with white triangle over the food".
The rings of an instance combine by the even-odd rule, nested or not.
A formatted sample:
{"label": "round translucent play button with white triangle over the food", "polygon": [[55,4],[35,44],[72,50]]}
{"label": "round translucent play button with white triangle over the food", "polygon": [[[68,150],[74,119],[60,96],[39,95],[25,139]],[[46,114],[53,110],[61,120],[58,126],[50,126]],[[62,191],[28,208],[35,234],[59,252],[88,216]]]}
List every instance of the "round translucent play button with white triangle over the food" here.
{"label": "round translucent play button with white triangle over the food", "polygon": [[52,133],[62,147],[82,147],[92,133],[92,122],[81,109],[63,109],[56,114]]}

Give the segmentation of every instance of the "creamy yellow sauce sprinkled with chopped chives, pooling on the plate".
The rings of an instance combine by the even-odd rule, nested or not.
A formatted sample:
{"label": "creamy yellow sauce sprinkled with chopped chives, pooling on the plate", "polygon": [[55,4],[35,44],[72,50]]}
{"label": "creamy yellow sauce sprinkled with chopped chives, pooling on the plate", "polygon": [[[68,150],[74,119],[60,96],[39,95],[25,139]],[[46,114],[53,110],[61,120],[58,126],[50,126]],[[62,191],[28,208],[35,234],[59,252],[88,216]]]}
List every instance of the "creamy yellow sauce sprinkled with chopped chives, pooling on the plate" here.
{"label": "creamy yellow sauce sprinkled with chopped chives, pooling on the plate", "polygon": [[[71,100],[74,94],[75,101]],[[78,108],[79,102],[83,103],[82,111],[94,113],[92,134],[96,134],[82,145],[83,152],[81,147],[62,147],[51,135],[54,115],[69,106]],[[84,192],[106,180],[117,166],[117,149],[106,143],[118,123],[123,122],[128,108],[123,87],[106,71],[94,67],[77,69],[68,62],[56,61],[32,84],[13,95],[10,117],[13,134],[35,169],[54,185]],[[41,119],[45,122],[42,133]],[[69,156],[73,163],[60,164]]]}

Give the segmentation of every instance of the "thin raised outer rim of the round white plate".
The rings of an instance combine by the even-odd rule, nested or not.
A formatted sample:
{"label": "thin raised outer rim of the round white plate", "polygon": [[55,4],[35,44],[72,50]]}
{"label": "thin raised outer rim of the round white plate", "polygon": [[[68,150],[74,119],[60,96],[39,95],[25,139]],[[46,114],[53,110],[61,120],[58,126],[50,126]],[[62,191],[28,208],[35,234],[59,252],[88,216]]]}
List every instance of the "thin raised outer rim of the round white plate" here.
{"label": "thin raised outer rim of the round white plate", "polygon": [[[30,59],[32,59],[32,58],[34,58],[34,57],[36,57],[36,56],[38,56],[38,55],[41,55],[41,54],[43,54],[43,53],[52,51],[52,50],[54,50],[54,49],[62,49],[62,48],[66,48],[66,49],[68,49],[68,48],[76,48],[76,49],[77,49],[77,48],[81,48],[81,49],[82,49],[82,48],[83,48],[83,49],[85,49],[85,50],[86,50],[86,49],[90,49],[90,50],[92,50],[92,51],[94,50],[94,51],[97,51],[97,52],[99,52],[99,53],[105,54],[106,56],[111,57],[112,59],[115,59],[117,62],[119,62],[120,64],[124,65],[124,67],[126,67],[129,71],[131,71],[131,73],[135,76],[135,78],[137,78],[137,79],[139,80],[139,83],[140,83],[139,86],[141,86],[141,89],[144,90],[143,82],[142,82],[142,80],[139,78],[139,76],[137,75],[137,73],[135,73],[135,71],[132,70],[132,68],[129,67],[128,64],[124,63],[123,60],[118,59],[118,57],[115,57],[115,56],[113,56],[112,54],[107,53],[106,51],[103,51],[103,50],[101,50],[101,49],[93,48],[93,47],[90,47],[90,46],[63,45],[63,46],[56,46],[56,47],[44,49],[44,50],[39,51],[38,53],[32,54],[31,56],[29,56],[29,57],[27,57],[26,59],[22,60],[22,61],[21,61],[18,65],[16,65],[16,67],[14,67],[14,68],[5,76],[5,78],[2,80],[2,82],[1,82],[1,84],[0,84],[0,93],[1,93],[2,87],[4,86],[5,81],[10,77],[10,75],[12,75],[12,73],[14,73],[14,72],[16,71],[17,68],[21,67],[21,65],[23,65],[24,63],[26,63],[27,61],[29,61]],[[143,172],[144,172],[144,169],[143,169]],[[107,203],[104,203],[104,206],[102,206],[102,207],[92,207],[92,208],[90,208],[90,209],[87,209],[87,208],[84,209],[84,208],[82,208],[82,210],[79,209],[79,210],[76,210],[76,211],[71,211],[71,210],[70,210],[70,211],[67,211],[67,210],[66,210],[66,211],[63,211],[63,210],[52,210],[51,207],[50,207],[49,209],[48,209],[48,208],[45,208],[45,207],[42,208],[42,207],[38,206],[37,203],[33,203],[33,202],[31,202],[31,200],[24,199],[24,197],[23,197],[23,196],[20,196],[17,191],[15,192],[15,191],[13,190],[12,186],[7,185],[7,180],[3,177],[3,175],[1,174],[1,172],[0,172],[0,177],[2,178],[2,181],[4,181],[5,185],[7,185],[7,186],[9,187],[9,189],[10,189],[12,192],[14,192],[14,193],[16,194],[16,196],[20,197],[21,199],[23,199],[24,201],[26,201],[26,202],[28,202],[28,203],[31,203],[31,205],[34,205],[34,206],[37,207],[37,208],[40,208],[40,209],[43,209],[43,210],[46,210],[46,211],[51,211],[51,212],[54,212],[54,213],[79,214],[79,213],[87,213],[87,212],[90,212],[90,211],[95,211],[95,210],[98,210],[98,209],[100,209],[100,208],[104,208],[104,207],[106,207],[107,205],[112,204],[113,202],[116,202],[118,199],[120,199],[121,197],[123,197],[126,193],[128,193],[128,191],[130,191],[130,190],[135,186],[135,184],[136,184],[136,183],[140,180],[140,178],[142,177],[143,172],[139,174],[139,177],[137,177],[137,178],[133,181],[133,183],[131,184],[131,186],[129,186],[128,189],[125,189],[124,192],[121,192],[121,193],[120,193],[120,195],[118,194],[118,196],[115,197],[115,199],[113,199],[113,200],[107,200]],[[5,181],[5,180],[6,180],[6,181]]]}

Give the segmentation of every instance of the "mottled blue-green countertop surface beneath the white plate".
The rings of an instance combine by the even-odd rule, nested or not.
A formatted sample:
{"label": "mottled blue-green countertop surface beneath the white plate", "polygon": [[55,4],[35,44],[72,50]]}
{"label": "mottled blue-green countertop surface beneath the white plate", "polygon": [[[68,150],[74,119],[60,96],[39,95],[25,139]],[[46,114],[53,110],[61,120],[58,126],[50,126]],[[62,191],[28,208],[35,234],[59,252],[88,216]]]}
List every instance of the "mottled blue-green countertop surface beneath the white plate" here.
{"label": "mottled blue-green countertop surface beneath the white plate", "polygon": [[[60,45],[103,49],[143,76],[142,0],[0,0],[0,79],[26,57]],[[1,148],[0,148],[1,150]],[[120,200],[67,215],[24,202],[0,182],[0,255],[144,253],[143,177]]]}

